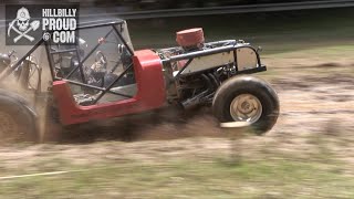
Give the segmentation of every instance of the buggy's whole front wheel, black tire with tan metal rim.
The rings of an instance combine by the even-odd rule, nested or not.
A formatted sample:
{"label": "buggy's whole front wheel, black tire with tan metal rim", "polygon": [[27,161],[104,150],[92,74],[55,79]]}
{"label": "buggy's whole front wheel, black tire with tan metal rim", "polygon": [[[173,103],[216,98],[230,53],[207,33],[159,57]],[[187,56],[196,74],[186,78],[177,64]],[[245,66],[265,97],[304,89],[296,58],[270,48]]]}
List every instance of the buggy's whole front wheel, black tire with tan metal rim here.
{"label": "buggy's whole front wheel, black tire with tan metal rim", "polygon": [[212,102],[214,115],[220,123],[242,122],[256,134],[270,130],[279,116],[279,98],[266,81],[235,76],[218,88]]}

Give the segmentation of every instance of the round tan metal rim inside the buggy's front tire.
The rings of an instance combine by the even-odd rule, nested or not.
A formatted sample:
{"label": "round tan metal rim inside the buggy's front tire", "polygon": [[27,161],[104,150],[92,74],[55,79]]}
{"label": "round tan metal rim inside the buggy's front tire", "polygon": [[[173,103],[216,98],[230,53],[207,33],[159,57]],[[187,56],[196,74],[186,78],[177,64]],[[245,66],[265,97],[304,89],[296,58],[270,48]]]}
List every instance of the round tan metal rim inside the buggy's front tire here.
{"label": "round tan metal rim inside the buggy's front tire", "polygon": [[262,104],[254,95],[238,95],[230,104],[230,115],[236,122],[253,124],[262,115]]}

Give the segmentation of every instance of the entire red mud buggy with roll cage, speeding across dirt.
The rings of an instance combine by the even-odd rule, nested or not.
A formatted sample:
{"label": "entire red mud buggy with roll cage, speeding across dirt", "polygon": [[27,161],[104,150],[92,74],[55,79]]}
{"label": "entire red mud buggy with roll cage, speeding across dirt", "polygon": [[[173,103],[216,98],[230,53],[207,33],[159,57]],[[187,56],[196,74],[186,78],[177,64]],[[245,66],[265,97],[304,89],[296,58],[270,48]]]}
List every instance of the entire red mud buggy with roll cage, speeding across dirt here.
{"label": "entire red mud buggy with roll cage, speeding across dirt", "polygon": [[40,40],[21,59],[0,55],[2,142],[166,105],[211,105],[220,123],[257,134],[277,122],[273,88],[243,75],[267,70],[249,43],[205,42],[197,28],[177,32],[179,46],[134,51],[124,20],[83,23],[79,35],[74,45]]}

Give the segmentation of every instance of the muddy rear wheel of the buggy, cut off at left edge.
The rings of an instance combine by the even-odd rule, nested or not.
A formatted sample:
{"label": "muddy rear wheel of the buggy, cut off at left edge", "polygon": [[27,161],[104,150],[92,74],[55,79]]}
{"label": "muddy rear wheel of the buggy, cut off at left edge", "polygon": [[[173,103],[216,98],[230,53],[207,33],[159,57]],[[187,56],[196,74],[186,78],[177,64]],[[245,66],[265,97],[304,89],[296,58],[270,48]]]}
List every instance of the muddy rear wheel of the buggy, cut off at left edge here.
{"label": "muddy rear wheel of the buggy, cut off at left edge", "polygon": [[0,95],[0,143],[38,142],[35,117],[17,98]]}

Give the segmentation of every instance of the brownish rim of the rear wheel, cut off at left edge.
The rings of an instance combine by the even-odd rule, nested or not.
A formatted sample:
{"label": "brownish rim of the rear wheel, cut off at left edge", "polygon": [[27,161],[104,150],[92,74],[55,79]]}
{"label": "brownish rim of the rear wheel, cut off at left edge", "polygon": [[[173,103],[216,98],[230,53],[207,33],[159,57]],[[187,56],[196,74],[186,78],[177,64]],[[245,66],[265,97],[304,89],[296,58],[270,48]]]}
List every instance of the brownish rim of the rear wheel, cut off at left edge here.
{"label": "brownish rim of the rear wheel, cut off at left edge", "polygon": [[0,138],[9,138],[14,135],[18,136],[18,126],[15,121],[10,114],[0,112]]}

